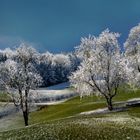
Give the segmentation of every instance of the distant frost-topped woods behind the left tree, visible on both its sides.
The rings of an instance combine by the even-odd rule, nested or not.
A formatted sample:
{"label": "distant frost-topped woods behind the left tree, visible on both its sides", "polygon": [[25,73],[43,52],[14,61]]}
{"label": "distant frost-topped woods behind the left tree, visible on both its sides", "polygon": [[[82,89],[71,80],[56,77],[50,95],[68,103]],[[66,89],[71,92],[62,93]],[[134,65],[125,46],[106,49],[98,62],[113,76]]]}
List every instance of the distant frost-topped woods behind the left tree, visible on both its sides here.
{"label": "distant frost-topped woods behind the left tree, visible on both its sides", "polygon": [[[20,44],[19,48],[23,46],[32,48],[32,46],[25,43]],[[43,79],[41,86],[45,87],[68,81],[68,76],[77,69],[80,63],[80,59],[75,53],[39,53],[34,49],[34,56],[31,63]],[[0,62],[6,62],[9,59],[16,60],[16,57],[16,49],[6,48],[5,50],[0,50]]]}

